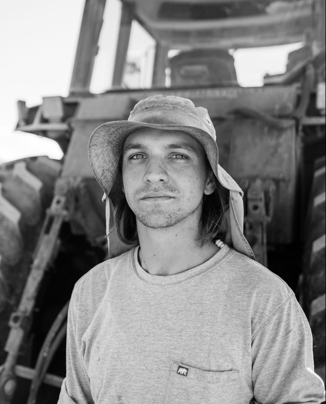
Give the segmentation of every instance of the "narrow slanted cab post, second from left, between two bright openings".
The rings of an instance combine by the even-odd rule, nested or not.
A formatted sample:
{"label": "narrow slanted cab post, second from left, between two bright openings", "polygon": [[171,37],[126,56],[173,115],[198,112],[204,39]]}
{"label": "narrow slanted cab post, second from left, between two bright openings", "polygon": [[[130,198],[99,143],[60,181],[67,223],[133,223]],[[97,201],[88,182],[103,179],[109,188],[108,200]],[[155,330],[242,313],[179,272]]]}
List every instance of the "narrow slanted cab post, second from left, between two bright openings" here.
{"label": "narrow slanted cab post, second from left, between two bright openings", "polygon": [[133,4],[122,3],[121,22],[116,51],[116,61],[114,63],[112,87],[121,87],[122,85],[124,65],[126,63],[131,23],[133,22],[133,15],[134,15]]}

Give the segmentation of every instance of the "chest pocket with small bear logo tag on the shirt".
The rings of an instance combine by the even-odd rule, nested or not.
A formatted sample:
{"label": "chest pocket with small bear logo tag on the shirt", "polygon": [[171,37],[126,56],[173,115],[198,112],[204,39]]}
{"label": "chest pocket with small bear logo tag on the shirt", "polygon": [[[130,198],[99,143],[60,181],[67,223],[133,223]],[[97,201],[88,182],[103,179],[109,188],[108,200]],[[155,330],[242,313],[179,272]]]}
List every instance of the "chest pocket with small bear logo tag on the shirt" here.
{"label": "chest pocket with small bear logo tag on the shirt", "polygon": [[164,404],[231,404],[239,370],[211,372],[173,362]]}

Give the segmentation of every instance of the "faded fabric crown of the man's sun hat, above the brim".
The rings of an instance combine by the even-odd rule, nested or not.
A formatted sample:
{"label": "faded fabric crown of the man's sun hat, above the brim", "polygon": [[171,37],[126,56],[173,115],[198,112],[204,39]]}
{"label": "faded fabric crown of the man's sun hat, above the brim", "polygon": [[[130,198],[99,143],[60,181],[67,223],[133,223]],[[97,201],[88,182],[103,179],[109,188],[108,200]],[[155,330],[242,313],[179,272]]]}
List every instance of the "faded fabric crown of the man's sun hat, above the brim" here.
{"label": "faded fabric crown of the man's sun hat, above the brim", "polygon": [[191,100],[175,95],[154,95],[139,101],[130,112],[128,121],[193,126],[216,139],[207,109],[195,107]]}

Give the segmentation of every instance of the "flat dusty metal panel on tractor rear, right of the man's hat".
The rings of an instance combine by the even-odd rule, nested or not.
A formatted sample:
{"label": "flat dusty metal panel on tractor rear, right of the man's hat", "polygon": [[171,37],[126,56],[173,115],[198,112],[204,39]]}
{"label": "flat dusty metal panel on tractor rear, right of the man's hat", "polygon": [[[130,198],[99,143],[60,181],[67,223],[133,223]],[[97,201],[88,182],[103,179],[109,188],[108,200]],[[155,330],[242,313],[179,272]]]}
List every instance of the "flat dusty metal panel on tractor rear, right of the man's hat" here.
{"label": "flat dusty metal panel on tractor rear, right of the man's hat", "polygon": [[294,121],[289,128],[279,129],[258,120],[236,119],[216,129],[223,168],[245,193],[258,178],[266,193],[271,193],[273,214],[267,225],[267,242],[292,242],[297,172]]}

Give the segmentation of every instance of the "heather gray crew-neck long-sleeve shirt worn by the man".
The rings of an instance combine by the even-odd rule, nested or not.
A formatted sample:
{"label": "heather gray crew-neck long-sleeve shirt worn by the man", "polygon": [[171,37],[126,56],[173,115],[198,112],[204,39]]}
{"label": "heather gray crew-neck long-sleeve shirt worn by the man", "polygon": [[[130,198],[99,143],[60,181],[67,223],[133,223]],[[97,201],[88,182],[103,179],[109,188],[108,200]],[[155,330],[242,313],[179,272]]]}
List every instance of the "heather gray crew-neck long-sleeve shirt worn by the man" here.
{"label": "heather gray crew-neck long-sleeve shirt worn by the man", "polygon": [[59,404],[325,400],[307,318],[281,278],[228,246],[171,276],[137,254],[76,283]]}

